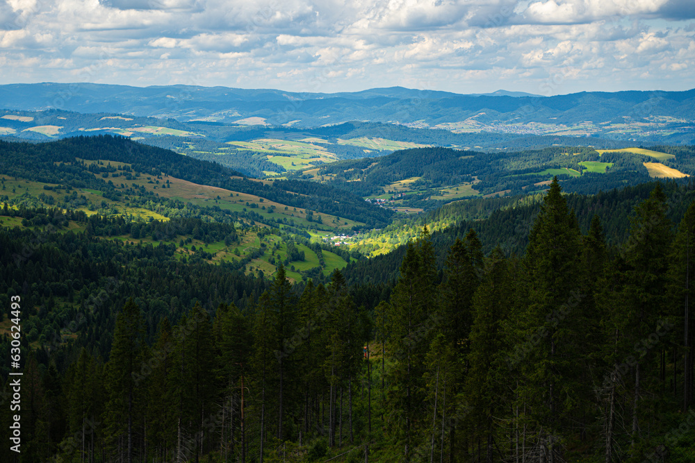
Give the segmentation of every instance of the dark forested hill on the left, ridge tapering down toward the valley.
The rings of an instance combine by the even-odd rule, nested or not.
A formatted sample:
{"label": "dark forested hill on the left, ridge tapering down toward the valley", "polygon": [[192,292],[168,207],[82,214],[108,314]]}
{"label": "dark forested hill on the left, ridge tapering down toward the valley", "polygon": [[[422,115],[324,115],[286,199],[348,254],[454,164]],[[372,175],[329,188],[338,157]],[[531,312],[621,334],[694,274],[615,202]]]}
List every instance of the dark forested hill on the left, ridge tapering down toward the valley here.
{"label": "dark forested hill on the left, ridge tapering down toward the valley", "polygon": [[[40,144],[0,141],[0,153],[0,169],[4,174],[68,187],[89,187],[110,197],[121,196],[130,187],[128,181],[132,180],[131,177],[142,174],[158,178],[163,175],[162,181],[166,185],[166,177],[175,177],[197,185],[220,187],[295,208],[353,219],[370,226],[384,225],[393,214],[329,185],[301,180],[263,183],[243,177],[216,162],[189,158],[124,137],[72,137]],[[130,173],[114,178],[115,167],[99,167],[88,161],[124,163]],[[165,183],[161,187],[165,187]]]}

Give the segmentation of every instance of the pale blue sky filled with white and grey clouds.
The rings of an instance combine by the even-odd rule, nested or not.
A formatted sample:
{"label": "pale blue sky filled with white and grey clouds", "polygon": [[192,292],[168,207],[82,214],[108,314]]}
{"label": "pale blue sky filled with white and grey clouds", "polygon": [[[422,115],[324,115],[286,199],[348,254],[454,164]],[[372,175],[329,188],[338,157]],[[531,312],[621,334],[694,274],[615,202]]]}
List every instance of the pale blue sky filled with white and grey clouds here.
{"label": "pale blue sky filled with white and grey clouds", "polygon": [[0,0],[0,84],[695,87],[695,0]]}

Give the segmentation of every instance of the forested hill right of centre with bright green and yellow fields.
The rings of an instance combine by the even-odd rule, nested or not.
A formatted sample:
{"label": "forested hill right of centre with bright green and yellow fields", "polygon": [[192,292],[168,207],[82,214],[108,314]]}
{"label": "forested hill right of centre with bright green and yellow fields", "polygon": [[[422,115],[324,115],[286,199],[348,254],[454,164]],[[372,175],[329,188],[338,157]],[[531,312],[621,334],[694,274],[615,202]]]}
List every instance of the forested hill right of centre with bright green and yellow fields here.
{"label": "forested hill right of centre with bright green and yellow fields", "polygon": [[695,174],[695,146],[661,146],[660,150],[550,146],[483,153],[433,146],[333,162],[307,169],[301,178],[398,201],[396,205],[431,209],[452,199],[537,192],[553,176],[562,180],[566,192],[593,194],[655,176]]}

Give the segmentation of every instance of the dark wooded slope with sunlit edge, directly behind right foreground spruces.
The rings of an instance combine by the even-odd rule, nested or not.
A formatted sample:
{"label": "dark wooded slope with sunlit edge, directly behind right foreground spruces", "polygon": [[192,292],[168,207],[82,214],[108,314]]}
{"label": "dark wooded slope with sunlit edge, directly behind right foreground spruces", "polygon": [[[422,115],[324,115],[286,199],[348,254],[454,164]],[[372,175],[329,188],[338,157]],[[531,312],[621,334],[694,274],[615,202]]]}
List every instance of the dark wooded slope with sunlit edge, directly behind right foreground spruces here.
{"label": "dark wooded slope with sunlit edge, directly behind right foreground spruces", "polygon": [[[687,181],[687,180],[686,180]],[[594,195],[567,194],[568,207],[574,211],[580,230],[586,233],[591,220],[600,220],[607,246],[621,246],[628,239],[633,210],[641,201],[649,197],[656,185],[661,185],[667,196],[667,217],[674,224],[682,219],[687,205],[695,200],[695,184],[675,181],[667,183],[643,183],[634,187],[625,187]],[[528,246],[528,233],[534,219],[541,210],[542,195],[528,199],[501,199],[494,204],[496,210],[489,212],[485,219],[475,218],[475,206],[469,207],[465,201],[459,201],[445,207],[414,217],[407,221],[393,224],[385,230],[373,233],[372,241],[379,241],[379,236],[389,239],[389,236],[404,235],[404,239],[417,239],[423,227],[445,219],[455,220],[456,224],[445,230],[432,233],[432,246],[436,254],[436,264],[443,269],[445,256],[450,246],[457,239],[464,239],[470,230],[474,230],[484,253],[499,249],[507,255],[523,255]],[[478,201],[482,203],[482,200]],[[358,246],[359,251],[368,254],[370,247],[366,244]],[[407,246],[402,244],[390,253],[377,255],[368,261],[352,262],[344,270],[345,278],[354,285],[384,285],[394,282],[399,276],[399,267]]]}

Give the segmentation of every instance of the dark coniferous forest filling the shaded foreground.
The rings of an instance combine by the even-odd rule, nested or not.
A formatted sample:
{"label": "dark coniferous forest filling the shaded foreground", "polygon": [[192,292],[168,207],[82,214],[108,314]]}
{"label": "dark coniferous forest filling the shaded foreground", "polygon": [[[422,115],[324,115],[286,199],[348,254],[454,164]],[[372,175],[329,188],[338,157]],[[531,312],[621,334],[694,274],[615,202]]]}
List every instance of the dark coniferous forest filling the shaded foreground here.
{"label": "dark coniferous forest filling the shaded foreground", "polygon": [[256,278],[44,211],[88,226],[1,229],[24,311],[22,453],[1,460],[691,462],[695,203],[669,218],[690,189],[656,184],[609,245],[555,178],[522,253],[469,230],[440,265],[425,226],[381,285]]}

